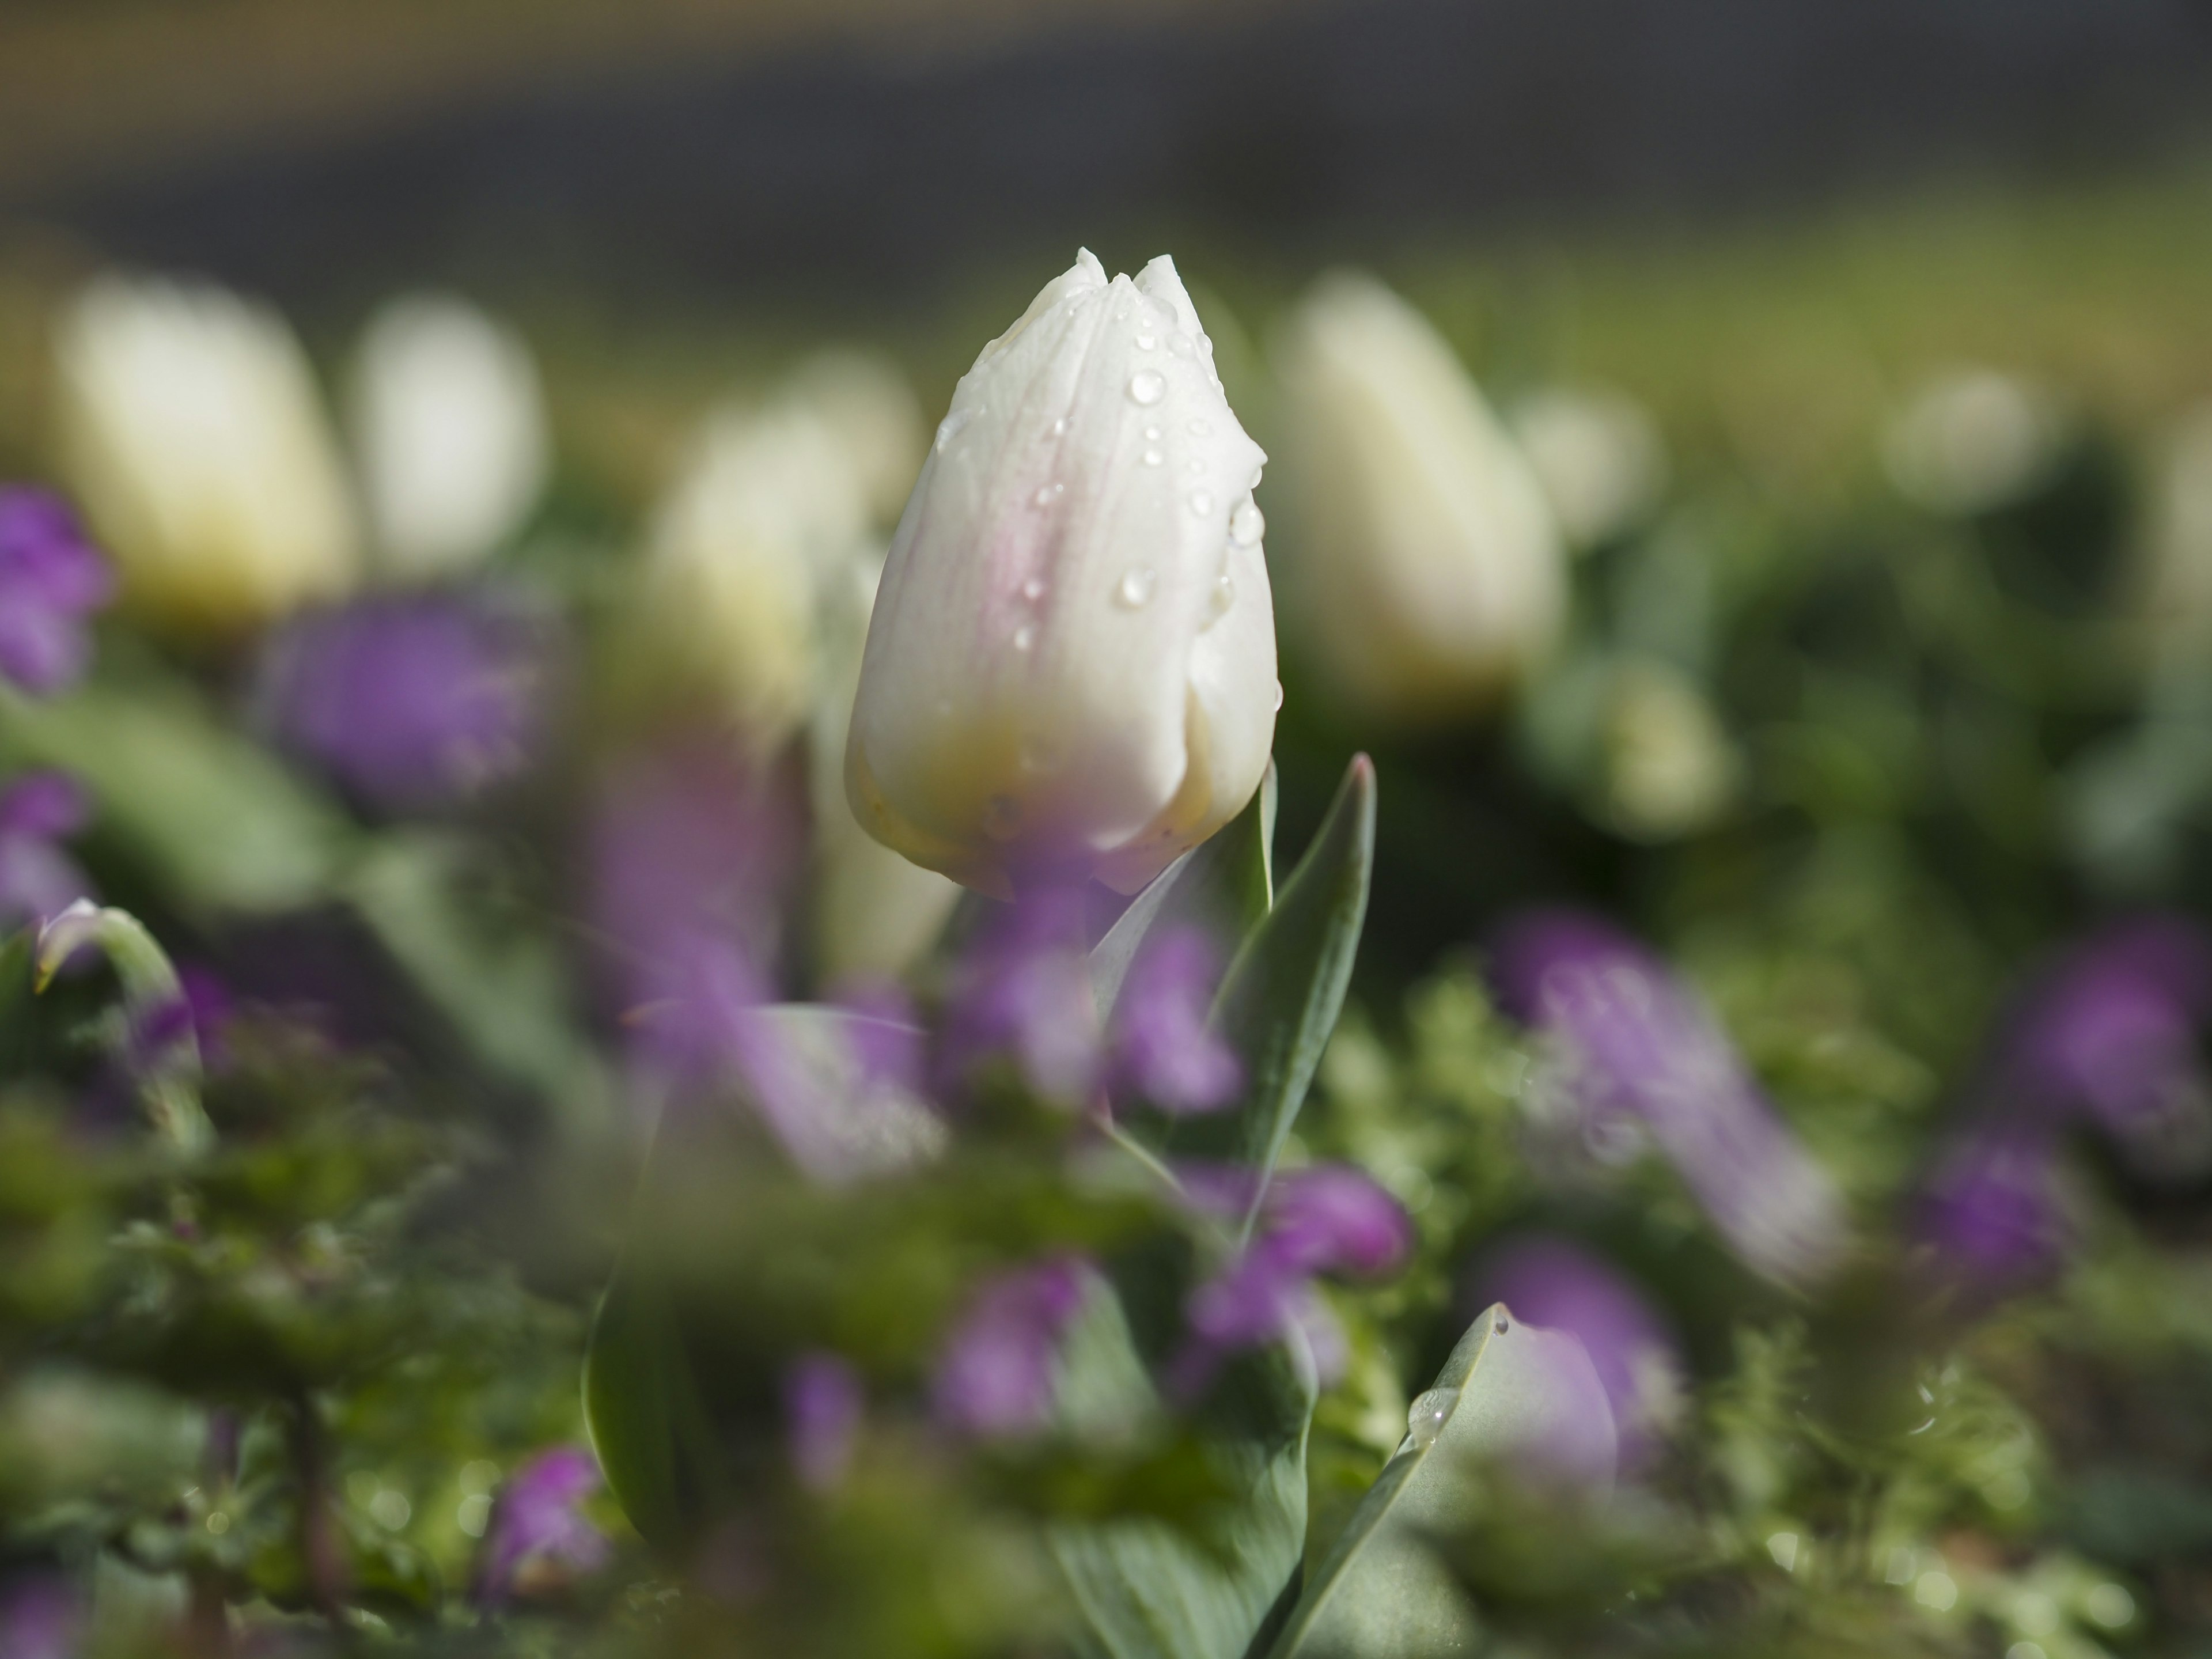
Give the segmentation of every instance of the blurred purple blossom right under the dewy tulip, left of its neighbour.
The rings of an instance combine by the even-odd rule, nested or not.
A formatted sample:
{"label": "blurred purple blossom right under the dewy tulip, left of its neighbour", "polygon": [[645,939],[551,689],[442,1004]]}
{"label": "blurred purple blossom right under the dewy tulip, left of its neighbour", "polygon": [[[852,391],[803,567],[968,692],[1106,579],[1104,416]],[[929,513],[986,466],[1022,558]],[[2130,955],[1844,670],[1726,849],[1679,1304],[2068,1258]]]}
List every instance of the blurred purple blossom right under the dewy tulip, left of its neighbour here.
{"label": "blurred purple blossom right under the dewy tulip, left of its neighbour", "polygon": [[991,1060],[1011,1060],[1037,1095],[1084,1106],[1099,1086],[1079,887],[1022,896],[960,962],[940,1046],[940,1088],[956,1097]]}

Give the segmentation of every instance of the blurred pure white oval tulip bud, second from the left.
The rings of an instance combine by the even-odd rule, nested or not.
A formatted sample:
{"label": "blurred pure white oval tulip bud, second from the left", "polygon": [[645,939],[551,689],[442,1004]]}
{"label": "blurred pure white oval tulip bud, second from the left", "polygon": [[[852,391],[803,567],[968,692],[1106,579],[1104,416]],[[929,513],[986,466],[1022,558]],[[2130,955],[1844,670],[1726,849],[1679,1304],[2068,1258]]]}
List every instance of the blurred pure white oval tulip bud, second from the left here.
{"label": "blurred pure white oval tulip bud, second from the left", "polygon": [[538,361],[465,299],[409,294],[369,319],[352,429],[378,566],[400,582],[480,564],[544,491]]}

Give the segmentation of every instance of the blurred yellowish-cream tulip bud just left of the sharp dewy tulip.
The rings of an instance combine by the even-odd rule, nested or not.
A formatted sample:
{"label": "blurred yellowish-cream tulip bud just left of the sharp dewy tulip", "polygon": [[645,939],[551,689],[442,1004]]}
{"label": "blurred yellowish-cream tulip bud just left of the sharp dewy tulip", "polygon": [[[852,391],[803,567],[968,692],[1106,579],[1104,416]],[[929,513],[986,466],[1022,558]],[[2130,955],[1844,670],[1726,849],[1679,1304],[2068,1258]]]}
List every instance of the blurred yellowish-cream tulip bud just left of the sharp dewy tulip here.
{"label": "blurred yellowish-cream tulip bud just left of the sharp dewy tulip", "polygon": [[653,679],[712,697],[774,748],[816,697],[821,588],[865,540],[867,491],[823,420],[787,403],[710,416],[650,531]]}

